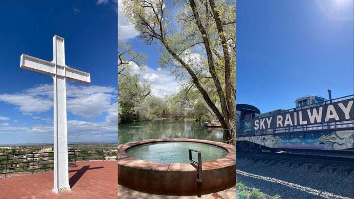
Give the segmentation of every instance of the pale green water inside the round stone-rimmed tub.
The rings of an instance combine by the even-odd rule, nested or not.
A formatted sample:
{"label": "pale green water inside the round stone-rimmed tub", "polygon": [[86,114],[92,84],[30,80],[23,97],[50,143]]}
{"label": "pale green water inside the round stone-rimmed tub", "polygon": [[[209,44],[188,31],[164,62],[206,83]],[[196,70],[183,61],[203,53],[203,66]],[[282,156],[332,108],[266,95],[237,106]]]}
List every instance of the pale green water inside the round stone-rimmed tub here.
{"label": "pale green water inside the round stone-rimmed tub", "polygon": [[[228,151],[224,148],[197,142],[155,142],[134,146],[126,154],[151,162],[189,163],[188,149],[202,152],[202,162],[224,157]],[[192,151],[192,159],[198,162],[197,152]]]}

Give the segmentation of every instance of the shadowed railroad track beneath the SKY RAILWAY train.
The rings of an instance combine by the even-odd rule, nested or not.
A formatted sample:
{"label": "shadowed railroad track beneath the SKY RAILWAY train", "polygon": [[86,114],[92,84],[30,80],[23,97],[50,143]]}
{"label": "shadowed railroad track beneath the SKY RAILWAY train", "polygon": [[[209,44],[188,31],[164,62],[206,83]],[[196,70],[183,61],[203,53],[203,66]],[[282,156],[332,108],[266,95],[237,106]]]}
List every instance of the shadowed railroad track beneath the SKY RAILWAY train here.
{"label": "shadowed railroad track beneath the SKY RAILWAY train", "polygon": [[[315,171],[326,170],[328,173],[334,173],[340,171],[344,175],[349,175],[354,170],[354,157],[351,153],[341,154],[325,154],[322,152],[306,151],[305,154],[302,151],[288,150],[278,151],[277,153],[242,153],[237,152],[237,159],[246,159],[253,162],[262,162],[267,166],[286,166],[286,167],[303,167],[309,170],[315,168]],[[237,167],[237,163],[236,163]]]}

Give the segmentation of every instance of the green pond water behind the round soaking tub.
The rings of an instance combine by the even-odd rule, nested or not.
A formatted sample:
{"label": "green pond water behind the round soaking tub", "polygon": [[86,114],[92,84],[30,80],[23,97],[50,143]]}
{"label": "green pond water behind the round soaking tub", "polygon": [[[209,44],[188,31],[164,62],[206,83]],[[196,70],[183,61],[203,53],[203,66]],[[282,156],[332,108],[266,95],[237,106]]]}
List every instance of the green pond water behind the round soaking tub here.
{"label": "green pond water behind the round soaking tub", "polygon": [[118,124],[118,144],[148,139],[189,138],[224,142],[222,128],[207,128],[189,120],[155,120]]}

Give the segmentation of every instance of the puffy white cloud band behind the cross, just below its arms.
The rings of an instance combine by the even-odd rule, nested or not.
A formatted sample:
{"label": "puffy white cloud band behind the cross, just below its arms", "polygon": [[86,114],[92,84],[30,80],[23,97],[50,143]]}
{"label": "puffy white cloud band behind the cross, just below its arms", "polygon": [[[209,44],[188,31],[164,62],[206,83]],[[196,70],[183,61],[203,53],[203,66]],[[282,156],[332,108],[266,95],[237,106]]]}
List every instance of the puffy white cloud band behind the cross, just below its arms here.
{"label": "puffy white cloud band behind the cross, just below its arms", "polygon": [[[105,113],[117,98],[117,88],[114,87],[66,85],[67,111],[85,118]],[[0,94],[0,101],[15,105],[24,115],[47,112],[53,107],[53,86],[39,85],[14,94]]]}

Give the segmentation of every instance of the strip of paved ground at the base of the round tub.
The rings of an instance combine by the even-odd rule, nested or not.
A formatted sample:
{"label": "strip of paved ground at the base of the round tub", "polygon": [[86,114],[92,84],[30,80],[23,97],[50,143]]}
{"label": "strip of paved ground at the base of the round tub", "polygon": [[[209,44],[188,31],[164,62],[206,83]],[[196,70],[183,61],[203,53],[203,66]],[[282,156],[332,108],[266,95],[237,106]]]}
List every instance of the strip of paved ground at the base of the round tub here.
{"label": "strip of paved ground at the base of the round tub", "polygon": [[134,191],[118,185],[118,199],[236,199],[236,186],[202,196],[162,196]]}

